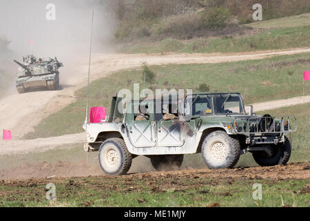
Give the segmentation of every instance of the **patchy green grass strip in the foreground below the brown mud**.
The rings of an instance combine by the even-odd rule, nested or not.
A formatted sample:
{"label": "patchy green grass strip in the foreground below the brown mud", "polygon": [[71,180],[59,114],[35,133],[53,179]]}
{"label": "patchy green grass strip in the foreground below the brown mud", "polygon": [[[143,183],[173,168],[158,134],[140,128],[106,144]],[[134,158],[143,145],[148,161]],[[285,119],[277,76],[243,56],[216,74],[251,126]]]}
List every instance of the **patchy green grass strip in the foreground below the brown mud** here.
{"label": "patchy green grass strip in the foreground below the brown mud", "polygon": [[[158,182],[168,180],[158,177]],[[309,206],[309,193],[300,193],[307,180],[177,180],[178,185],[195,185],[176,191],[173,187],[159,186],[160,193],[154,193],[152,186],[145,185],[143,179],[132,178],[128,182],[123,177],[90,177],[43,180],[20,184],[0,183],[0,206]],[[45,200],[47,183],[56,186],[56,201]],[[198,187],[197,186],[198,184]],[[262,184],[262,200],[254,200],[254,183]],[[169,185],[172,186],[172,185]],[[132,190],[131,190],[132,189]],[[139,202],[140,201],[140,202]]]}

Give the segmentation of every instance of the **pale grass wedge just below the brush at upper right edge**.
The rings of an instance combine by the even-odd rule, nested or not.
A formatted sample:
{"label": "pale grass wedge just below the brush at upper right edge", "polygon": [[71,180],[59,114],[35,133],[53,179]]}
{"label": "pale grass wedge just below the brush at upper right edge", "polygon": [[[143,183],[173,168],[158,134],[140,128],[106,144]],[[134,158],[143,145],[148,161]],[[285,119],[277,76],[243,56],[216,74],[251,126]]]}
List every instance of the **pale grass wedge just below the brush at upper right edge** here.
{"label": "pale grass wedge just below the brush at upper right edge", "polygon": [[267,21],[257,21],[245,26],[252,28],[292,28],[300,26],[310,26],[310,13],[270,19]]}

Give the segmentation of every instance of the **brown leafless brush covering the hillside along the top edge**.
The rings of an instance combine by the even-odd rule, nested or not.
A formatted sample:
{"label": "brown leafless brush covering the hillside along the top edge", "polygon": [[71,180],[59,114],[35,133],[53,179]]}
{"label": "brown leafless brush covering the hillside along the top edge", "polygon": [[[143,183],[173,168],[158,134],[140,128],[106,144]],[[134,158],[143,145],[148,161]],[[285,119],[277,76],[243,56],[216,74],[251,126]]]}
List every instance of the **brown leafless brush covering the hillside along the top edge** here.
{"label": "brown leafless brush covering the hillside along the top edge", "polygon": [[[256,1],[264,20],[310,12],[309,1]],[[253,22],[254,1],[230,0],[117,0],[112,4],[116,17],[116,41],[133,39],[192,39],[211,31],[234,32],[238,25]]]}

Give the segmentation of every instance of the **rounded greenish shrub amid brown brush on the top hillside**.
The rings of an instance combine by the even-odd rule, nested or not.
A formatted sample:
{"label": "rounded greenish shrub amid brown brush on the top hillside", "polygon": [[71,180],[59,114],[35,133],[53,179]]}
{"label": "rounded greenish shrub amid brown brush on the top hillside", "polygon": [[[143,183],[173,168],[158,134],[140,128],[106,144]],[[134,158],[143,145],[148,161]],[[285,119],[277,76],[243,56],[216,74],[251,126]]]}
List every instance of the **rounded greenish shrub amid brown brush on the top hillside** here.
{"label": "rounded greenish shrub amid brown brush on the top hillside", "polygon": [[227,8],[209,8],[201,15],[201,25],[203,28],[224,28],[229,17],[230,12]]}

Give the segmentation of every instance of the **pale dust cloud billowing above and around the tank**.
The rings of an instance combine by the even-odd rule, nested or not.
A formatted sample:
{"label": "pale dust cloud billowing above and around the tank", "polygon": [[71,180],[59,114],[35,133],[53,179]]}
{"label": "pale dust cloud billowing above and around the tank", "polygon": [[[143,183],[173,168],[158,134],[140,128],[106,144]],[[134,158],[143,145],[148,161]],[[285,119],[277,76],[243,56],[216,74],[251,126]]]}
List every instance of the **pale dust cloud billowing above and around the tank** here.
{"label": "pale dust cloud billowing above and around the tank", "polygon": [[[93,52],[106,52],[115,23],[111,3],[109,0],[1,0],[0,41],[6,39],[10,44],[0,47],[0,92],[15,87],[18,66],[12,60],[21,61],[22,56],[32,53],[36,57],[57,57],[65,65],[61,74],[74,76],[72,67],[89,55],[92,9]],[[52,20],[47,19],[50,15],[54,15]]]}

